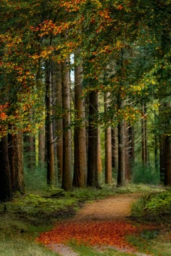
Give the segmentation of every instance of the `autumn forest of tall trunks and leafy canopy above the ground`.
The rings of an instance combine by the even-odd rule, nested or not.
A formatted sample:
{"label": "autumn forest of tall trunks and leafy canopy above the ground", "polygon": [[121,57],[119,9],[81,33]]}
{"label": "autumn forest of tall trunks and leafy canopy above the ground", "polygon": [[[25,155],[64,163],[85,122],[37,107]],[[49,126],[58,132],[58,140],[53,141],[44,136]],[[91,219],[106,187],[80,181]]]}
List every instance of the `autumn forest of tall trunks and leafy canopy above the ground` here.
{"label": "autumn forest of tall trunks and leafy canopy above the ground", "polygon": [[35,176],[170,186],[170,0],[0,7],[0,201]]}

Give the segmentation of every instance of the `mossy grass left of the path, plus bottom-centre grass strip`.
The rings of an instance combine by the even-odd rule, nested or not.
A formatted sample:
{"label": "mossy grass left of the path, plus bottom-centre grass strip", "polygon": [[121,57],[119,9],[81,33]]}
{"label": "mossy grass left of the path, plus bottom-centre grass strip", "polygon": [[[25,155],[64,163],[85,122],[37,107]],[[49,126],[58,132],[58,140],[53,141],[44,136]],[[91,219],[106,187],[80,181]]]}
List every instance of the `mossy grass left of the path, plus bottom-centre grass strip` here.
{"label": "mossy grass left of the path, plus bottom-centre grass strip", "polygon": [[[34,239],[39,232],[51,230],[55,221],[73,216],[85,201],[117,193],[158,191],[158,188],[138,184],[128,184],[125,188],[103,186],[102,189],[74,189],[64,192],[59,188],[43,188],[33,193],[27,190],[25,195],[16,195],[12,202],[0,204],[0,255],[1,256],[54,256],[45,246],[36,244]],[[52,196],[56,195],[56,196]],[[129,255],[108,249],[97,252],[88,246],[71,244],[80,255]]]}

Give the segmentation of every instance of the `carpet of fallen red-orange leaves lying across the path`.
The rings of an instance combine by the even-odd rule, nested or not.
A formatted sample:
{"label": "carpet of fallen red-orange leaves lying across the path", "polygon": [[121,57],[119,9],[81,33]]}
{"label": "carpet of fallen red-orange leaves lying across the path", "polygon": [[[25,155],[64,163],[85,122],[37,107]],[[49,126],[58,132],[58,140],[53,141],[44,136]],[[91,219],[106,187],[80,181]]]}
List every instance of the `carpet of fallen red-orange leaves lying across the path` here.
{"label": "carpet of fallen red-orange leaves lying across the path", "polygon": [[53,230],[40,234],[36,239],[44,244],[61,244],[72,239],[89,245],[112,245],[118,248],[132,248],[125,236],[137,228],[124,221],[89,221],[60,223]]}

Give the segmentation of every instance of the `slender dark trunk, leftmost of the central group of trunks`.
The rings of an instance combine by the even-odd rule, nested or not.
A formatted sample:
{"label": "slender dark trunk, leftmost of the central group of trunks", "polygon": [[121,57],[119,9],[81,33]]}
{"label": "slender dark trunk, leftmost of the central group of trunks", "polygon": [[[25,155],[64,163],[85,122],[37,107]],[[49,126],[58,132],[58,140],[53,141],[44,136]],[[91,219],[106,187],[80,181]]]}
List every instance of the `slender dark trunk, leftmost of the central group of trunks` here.
{"label": "slender dark trunk, leftmost of the central group of trunks", "polygon": [[51,67],[47,67],[47,95],[46,95],[46,119],[45,119],[45,138],[46,138],[46,161],[47,161],[47,184],[54,184],[55,168],[54,168],[54,143],[53,143],[53,127],[52,127],[52,77]]}

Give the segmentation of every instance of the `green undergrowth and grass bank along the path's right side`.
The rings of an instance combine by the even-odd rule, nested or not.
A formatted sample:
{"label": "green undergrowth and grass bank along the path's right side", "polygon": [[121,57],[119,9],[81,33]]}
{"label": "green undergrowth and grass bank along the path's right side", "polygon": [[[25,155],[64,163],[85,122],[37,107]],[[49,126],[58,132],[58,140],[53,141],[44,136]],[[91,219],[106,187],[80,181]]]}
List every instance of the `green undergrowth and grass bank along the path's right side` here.
{"label": "green undergrowth and grass bank along the path's right side", "polygon": [[[139,234],[128,237],[138,252],[154,256],[171,255],[171,191],[144,195],[132,207],[136,225],[142,229]],[[148,225],[148,227],[145,227]]]}

